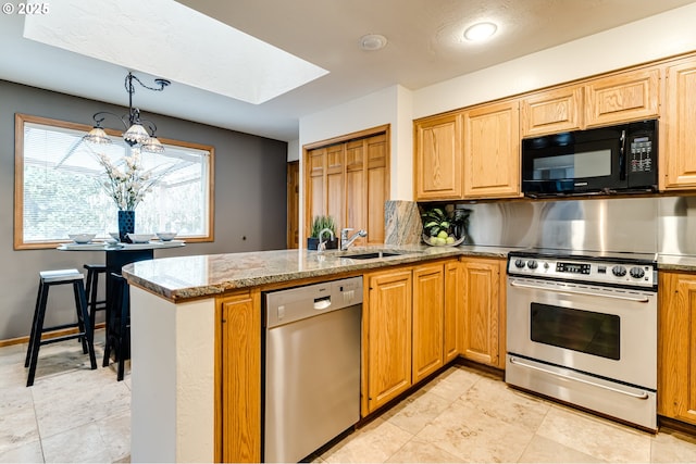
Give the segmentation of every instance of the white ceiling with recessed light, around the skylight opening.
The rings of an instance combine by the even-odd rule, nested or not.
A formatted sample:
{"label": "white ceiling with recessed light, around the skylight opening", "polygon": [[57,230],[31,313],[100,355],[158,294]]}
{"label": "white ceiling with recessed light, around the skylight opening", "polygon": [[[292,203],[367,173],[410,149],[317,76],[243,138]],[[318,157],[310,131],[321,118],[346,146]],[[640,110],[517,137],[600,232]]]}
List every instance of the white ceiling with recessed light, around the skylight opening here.
{"label": "white ceiling with recessed light, around the skylight opening", "polygon": [[[62,0],[50,2],[60,9]],[[330,73],[262,104],[250,104],[132,70],[146,84],[172,79],[164,92],[137,91],[134,104],[161,113],[279,140],[298,138],[298,120],[396,84],[415,90],[580,37],[631,23],[694,0],[179,0]],[[50,12],[49,12],[50,14]],[[484,45],[464,28],[494,21]],[[152,21],[158,21],[153,17]],[[206,34],[208,30],[201,30]],[[359,39],[382,34],[378,51]],[[125,32],[124,32],[125,34]],[[99,37],[91,38],[99,42]],[[127,70],[23,38],[23,16],[0,15],[0,78],[127,105]],[[148,43],[141,43],[148,49]],[[187,58],[172,48],[186,65]],[[224,60],[225,57],[219,57]],[[239,70],[245,73],[246,70]],[[85,124],[91,115],[85,115]],[[147,117],[147,116],[146,116]],[[159,134],[167,135],[160,126]]]}

